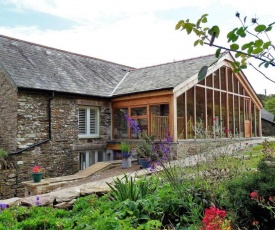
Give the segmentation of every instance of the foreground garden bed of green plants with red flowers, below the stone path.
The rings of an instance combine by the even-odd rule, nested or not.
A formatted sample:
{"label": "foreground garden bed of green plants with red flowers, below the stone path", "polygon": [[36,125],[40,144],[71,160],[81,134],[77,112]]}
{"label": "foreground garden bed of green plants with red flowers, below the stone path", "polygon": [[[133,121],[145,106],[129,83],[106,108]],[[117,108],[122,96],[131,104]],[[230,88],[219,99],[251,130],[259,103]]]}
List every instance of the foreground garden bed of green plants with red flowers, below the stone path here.
{"label": "foreground garden bed of green plants with red flowers, below the stone path", "polygon": [[[208,171],[208,167],[222,164],[226,168],[230,157],[235,162],[240,154],[229,152],[227,160],[221,159],[223,155],[215,155],[209,163],[194,165],[193,170],[191,166],[180,168],[168,158],[174,167],[167,170],[174,174],[178,190],[163,174],[136,180],[124,176],[114,181],[110,193],[81,197],[72,210],[41,206],[0,210],[0,229],[211,229],[212,224],[222,225],[216,229],[230,229],[229,224],[234,229],[272,229],[274,146],[275,143],[265,142],[251,149],[253,155],[258,151],[264,156],[258,165],[259,172],[244,167],[234,174],[236,178],[202,176],[201,172]],[[229,150],[224,148],[219,153]],[[245,159],[252,160],[250,156]]]}

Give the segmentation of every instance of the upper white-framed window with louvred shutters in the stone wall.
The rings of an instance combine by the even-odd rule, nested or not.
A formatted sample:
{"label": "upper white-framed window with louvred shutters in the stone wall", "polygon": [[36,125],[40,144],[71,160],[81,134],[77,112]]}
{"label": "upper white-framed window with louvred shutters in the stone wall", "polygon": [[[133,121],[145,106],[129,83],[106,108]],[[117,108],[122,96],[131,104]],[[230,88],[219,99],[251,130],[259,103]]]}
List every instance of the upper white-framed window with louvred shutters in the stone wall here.
{"label": "upper white-framed window with louvred shutters in the stone wall", "polygon": [[99,137],[99,108],[81,107],[78,110],[78,137]]}

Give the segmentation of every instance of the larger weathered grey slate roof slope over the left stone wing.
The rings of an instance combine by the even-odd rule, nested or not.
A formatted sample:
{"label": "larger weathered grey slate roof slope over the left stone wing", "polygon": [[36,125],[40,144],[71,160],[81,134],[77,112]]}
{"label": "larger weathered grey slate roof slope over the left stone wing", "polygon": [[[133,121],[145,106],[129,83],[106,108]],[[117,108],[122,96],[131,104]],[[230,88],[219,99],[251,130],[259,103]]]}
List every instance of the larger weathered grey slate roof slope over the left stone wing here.
{"label": "larger weathered grey slate roof slope over the left stone wing", "polygon": [[0,35],[0,65],[21,88],[109,97],[132,69]]}

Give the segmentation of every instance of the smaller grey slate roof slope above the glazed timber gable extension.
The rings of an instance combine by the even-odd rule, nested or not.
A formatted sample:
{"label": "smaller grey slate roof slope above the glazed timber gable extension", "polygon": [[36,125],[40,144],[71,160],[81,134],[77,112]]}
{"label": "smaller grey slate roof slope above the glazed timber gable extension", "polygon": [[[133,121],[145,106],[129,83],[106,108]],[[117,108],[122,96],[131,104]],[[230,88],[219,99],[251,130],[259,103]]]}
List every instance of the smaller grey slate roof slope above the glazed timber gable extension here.
{"label": "smaller grey slate roof slope above the glazed timber gable extension", "polygon": [[216,61],[215,55],[208,55],[131,70],[113,95],[174,88],[198,73],[204,65],[210,66]]}

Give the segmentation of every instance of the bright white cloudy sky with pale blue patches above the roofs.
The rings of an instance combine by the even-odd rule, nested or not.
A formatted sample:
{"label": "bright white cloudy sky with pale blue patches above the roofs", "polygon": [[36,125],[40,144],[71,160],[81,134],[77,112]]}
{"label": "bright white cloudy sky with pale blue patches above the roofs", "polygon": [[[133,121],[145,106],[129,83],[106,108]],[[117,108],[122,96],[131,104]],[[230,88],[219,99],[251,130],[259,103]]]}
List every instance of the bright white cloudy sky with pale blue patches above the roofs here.
{"label": "bright white cloudy sky with pale blue patches above the roofs", "polygon": [[[175,25],[207,13],[209,27],[222,28],[217,44],[226,46],[227,32],[240,26],[237,11],[275,21],[274,0],[0,0],[0,34],[140,68],[215,53],[194,47],[196,37]],[[275,80],[271,68],[260,70]],[[275,83],[251,68],[244,72],[257,93],[275,94]]]}

